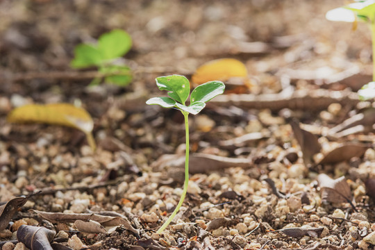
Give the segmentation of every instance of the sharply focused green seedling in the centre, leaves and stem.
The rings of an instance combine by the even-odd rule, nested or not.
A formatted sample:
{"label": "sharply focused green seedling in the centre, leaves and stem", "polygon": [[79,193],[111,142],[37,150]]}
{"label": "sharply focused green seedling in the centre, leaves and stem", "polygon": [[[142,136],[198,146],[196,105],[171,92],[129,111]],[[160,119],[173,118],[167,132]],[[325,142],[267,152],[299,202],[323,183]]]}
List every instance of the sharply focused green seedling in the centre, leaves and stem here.
{"label": "sharply focused green seedling in the centre, leaves and stem", "polygon": [[153,97],[146,103],[149,105],[160,105],[163,108],[176,108],[181,111],[185,117],[185,183],[183,185],[183,194],[181,194],[180,201],[172,215],[169,216],[167,221],[161,226],[157,233],[162,233],[164,229],[172,222],[172,219],[177,214],[178,210],[183,204],[186,192],[188,191],[189,182],[189,123],[188,115],[197,115],[205,106],[206,102],[213,99],[218,94],[222,94],[225,89],[224,83],[221,81],[209,81],[197,86],[190,95],[190,105],[185,106],[185,101],[190,94],[190,83],[185,76],[160,76],[156,78],[156,85],[159,90],[167,90],[169,97]]}

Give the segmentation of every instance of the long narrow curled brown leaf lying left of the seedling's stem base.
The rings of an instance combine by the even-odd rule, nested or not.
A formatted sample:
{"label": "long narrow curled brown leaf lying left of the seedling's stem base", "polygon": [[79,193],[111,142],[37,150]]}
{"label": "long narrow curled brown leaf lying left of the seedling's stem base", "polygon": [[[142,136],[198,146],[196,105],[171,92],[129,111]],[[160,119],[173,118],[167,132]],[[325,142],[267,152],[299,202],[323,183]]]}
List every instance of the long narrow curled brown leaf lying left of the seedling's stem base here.
{"label": "long narrow curled brown leaf lying left of the seedling's stem base", "polygon": [[82,221],[88,222],[89,220],[93,220],[95,222],[99,222],[103,226],[119,226],[122,225],[126,228],[126,230],[131,231],[137,237],[139,237],[138,230],[133,228],[126,219],[122,217],[113,217],[113,216],[105,216],[105,215],[96,215],[93,213],[49,213],[49,212],[42,212],[38,210],[33,210],[35,213],[38,213],[44,219],[49,220],[50,222],[75,222],[78,219]]}

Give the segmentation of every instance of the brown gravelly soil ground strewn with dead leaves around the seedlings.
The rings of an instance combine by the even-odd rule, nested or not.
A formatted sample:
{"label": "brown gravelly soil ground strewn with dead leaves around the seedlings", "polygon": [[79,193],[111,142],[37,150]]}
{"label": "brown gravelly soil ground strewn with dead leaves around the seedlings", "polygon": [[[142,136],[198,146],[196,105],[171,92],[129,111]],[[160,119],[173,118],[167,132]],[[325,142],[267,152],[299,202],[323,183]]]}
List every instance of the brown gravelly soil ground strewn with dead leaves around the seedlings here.
{"label": "brown gravelly soil ground strewn with dead leaves around the seedlings", "polygon": [[[342,4],[0,1],[2,249],[25,249],[21,225],[56,231],[53,249],[374,249],[374,110],[356,94],[371,38],[324,18]],[[133,82],[71,77],[74,47],[114,28],[133,39]],[[178,110],[145,101],[157,76],[190,78],[218,58],[242,61],[251,86],[227,83],[190,116],[188,196],[158,235],[182,192],[185,129]],[[59,102],[92,115],[96,151],[74,128],[6,121]],[[81,228],[88,214],[113,223]]]}

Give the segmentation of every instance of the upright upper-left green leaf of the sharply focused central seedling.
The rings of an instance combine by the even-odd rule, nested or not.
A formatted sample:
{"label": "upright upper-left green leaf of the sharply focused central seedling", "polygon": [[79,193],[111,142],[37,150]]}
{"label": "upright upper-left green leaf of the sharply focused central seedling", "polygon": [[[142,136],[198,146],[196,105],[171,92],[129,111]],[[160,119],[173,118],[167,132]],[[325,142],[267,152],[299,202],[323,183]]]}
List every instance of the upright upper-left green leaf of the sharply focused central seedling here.
{"label": "upright upper-left green leaf of the sharply focused central seedling", "polygon": [[156,78],[159,90],[167,90],[169,97],[185,104],[190,94],[190,83],[185,76],[160,76]]}

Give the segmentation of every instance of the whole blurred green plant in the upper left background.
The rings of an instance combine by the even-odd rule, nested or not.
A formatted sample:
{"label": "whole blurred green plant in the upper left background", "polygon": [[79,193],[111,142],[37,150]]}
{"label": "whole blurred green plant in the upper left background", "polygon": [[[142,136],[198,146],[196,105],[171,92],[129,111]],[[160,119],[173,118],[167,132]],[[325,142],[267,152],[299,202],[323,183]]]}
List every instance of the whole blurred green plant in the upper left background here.
{"label": "whole blurred green plant in the upper left background", "polygon": [[[119,63],[118,58],[131,49],[131,36],[116,29],[101,35],[97,44],[78,44],[74,49],[71,66],[75,69],[98,67],[106,83],[125,86],[132,80],[131,69]],[[92,85],[97,85],[101,77],[94,78]]]}

